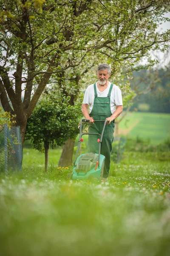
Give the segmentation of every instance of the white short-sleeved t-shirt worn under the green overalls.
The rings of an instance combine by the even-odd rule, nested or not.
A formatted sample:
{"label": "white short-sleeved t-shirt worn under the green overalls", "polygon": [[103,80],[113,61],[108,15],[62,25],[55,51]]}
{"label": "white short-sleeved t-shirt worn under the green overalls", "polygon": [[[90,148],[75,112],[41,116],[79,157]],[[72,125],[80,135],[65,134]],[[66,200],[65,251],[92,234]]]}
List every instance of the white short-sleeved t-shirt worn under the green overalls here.
{"label": "white short-sleeved t-shirt worn under the green overalls", "polygon": [[[109,82],[108,87],[103,92],[100,92],[96,82],[97,96],[107,97],[110,87],[111,87],[111,82]],[[91,113],[94,105],[94,84],[89,85],[85,90],[85,95],[82,103],[89,105],[89,113]],[[116,106],[122,106],[122,105],[123,103],[122,103],[121,90],[117,85],[113,84],[113,88],[111,90],[111,113],[113,114],[113,112],[116,110]]]}

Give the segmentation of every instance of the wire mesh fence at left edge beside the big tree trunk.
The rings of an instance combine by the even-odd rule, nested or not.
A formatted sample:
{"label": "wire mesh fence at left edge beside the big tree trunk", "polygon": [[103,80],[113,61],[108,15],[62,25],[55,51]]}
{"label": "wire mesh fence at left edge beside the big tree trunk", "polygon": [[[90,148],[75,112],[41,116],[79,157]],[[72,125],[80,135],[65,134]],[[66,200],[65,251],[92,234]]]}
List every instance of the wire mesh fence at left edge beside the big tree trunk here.
{"label": "wire mesh fence at left edge beside the big tree trunk", "polygon": [[4,125],[0,132],[0,171],[21,171],[23,148],[20,126],[8,128]]}

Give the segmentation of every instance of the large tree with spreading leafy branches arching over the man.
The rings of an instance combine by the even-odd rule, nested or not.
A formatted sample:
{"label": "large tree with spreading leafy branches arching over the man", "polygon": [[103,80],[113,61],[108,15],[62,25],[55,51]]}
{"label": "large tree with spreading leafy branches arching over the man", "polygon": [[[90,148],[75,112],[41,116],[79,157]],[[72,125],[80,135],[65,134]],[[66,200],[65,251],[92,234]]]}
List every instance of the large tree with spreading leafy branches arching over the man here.
{"label": "large tree with spreading leafy branches arching over the man", "polygon": [[169,41],[169,31],[156,32],[168,20],[169,0],[0,0],[0,6],[0,100],[16,115],[22,143],[27,119],[57,74],[92,53],[107,56],[115,72],[131,69]]}

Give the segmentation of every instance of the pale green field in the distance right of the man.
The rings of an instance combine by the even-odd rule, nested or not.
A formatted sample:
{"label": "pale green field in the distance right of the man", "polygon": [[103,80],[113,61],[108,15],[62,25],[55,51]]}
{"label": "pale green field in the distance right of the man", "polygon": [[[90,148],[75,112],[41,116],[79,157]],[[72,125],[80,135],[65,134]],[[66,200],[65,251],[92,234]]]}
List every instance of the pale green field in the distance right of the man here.
{"label": "pale green field in the distance right of the man", "polygon": [[127,137],[140,137],[156,145],[170,138],[170,114],[130,112],[119,128],[129,130]]}

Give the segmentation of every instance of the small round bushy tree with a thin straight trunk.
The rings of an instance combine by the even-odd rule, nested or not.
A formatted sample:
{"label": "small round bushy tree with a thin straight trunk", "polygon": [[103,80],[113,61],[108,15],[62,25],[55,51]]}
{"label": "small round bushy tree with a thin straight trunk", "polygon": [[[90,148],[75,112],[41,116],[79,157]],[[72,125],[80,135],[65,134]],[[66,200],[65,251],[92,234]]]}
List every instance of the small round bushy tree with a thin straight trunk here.
{"label": "small round bushy tree with a thin straight trunk", "polygon": [[25,137],[31,140],[35,149],[45,151],[45,172],[48,168],[49,145],[62,146],[69,138],[75,140],[79,132],[77,119],[81,114],[80,106],[71,106],[69,100],[70,97],[63,95],[49,95],[39,102],[28,118]]}

